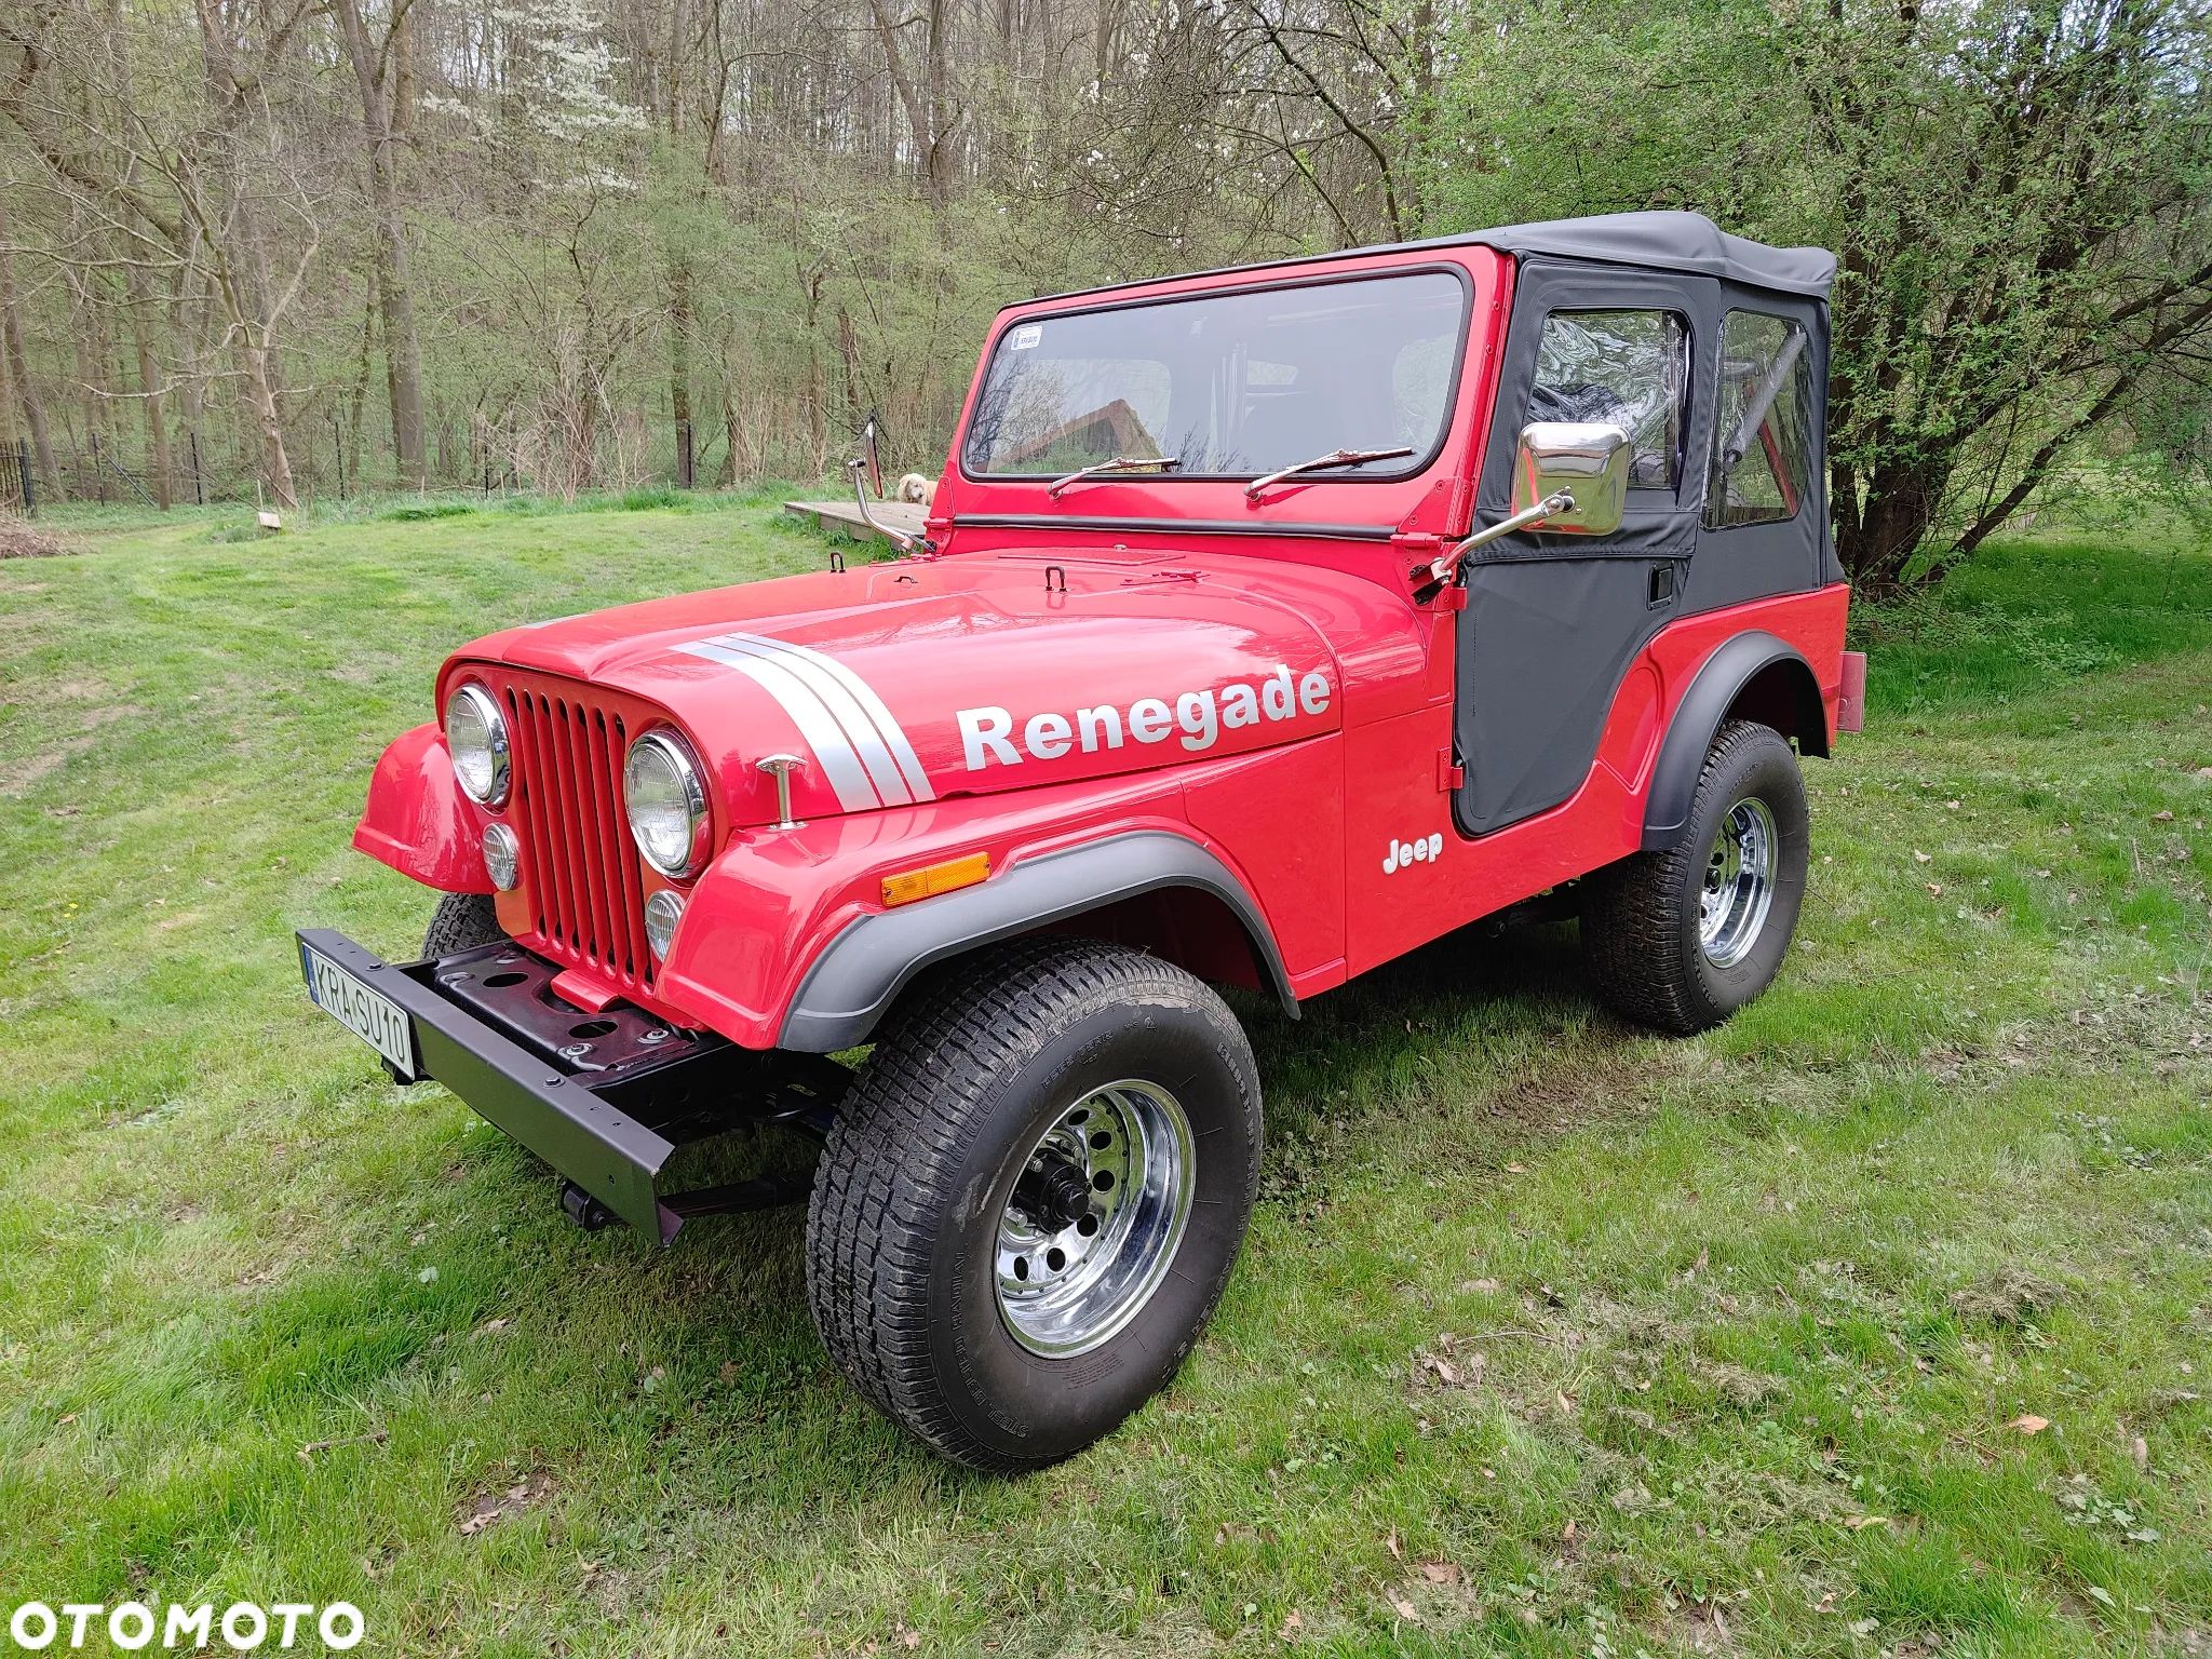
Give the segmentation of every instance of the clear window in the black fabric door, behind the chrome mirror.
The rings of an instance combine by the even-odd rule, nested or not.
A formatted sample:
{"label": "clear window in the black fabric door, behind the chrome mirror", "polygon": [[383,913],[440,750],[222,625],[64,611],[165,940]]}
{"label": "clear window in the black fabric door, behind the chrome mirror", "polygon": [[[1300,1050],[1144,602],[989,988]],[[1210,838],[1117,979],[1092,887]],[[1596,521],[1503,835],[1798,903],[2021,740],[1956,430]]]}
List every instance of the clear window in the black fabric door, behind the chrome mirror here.
{"label": "clear window in the black fabric door, behind the chrome mirror", "polygon": [[1674,489],[1688,341],[1677,312],[1553,312],[1537,341],[1528,418],[1621,427],[1630,487]]}

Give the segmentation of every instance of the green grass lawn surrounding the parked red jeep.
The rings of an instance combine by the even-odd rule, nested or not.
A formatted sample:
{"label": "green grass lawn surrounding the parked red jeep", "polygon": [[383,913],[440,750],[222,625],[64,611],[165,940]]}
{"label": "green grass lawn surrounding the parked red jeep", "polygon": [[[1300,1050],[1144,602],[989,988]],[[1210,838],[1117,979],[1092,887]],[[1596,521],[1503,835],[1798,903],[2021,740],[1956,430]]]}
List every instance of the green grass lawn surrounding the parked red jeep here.
{"label": "green grass lawn surrounding the parked red jeep", "polygon": [[[799,571],[717,511],[108,522],[0,564],[0,1613],[352,1599],[363,1652],[2212,1652],[2212,560],[1867,613],[1781,984],[1573,931],[1290,1024],[1183,1376],[1031,1480],[880,1422],[799,1212],[672,1252],[314,1013],[440,655]],[[2042,1425],[2042,1427],[2037,1427]],[[66,1637],[64,1637],[66,1639]]]}

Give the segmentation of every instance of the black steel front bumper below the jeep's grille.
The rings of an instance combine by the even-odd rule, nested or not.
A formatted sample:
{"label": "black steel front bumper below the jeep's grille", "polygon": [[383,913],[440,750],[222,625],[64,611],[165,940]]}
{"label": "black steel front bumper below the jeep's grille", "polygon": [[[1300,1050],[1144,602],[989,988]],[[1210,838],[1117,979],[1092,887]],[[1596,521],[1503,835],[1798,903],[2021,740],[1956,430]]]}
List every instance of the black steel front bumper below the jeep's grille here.
{"label": "black steel front bumper below the jeep's grille", "polygon": [[557,969],[520,945],[436,962],[385,962],[327,927],[301,929],[299,945],[310,993],[307,951],[405,1015],[416,1075],[385,1062],[400,1082],[445,1084],[661,1243],[695,1214],[759,1208],[770,1197],[763,1183],[664,1192],[679,1146],[741,1121],[825,1126],[849,1079],[832,1060],[754,1053],[628,1004],[573,1009],[551,991]]}

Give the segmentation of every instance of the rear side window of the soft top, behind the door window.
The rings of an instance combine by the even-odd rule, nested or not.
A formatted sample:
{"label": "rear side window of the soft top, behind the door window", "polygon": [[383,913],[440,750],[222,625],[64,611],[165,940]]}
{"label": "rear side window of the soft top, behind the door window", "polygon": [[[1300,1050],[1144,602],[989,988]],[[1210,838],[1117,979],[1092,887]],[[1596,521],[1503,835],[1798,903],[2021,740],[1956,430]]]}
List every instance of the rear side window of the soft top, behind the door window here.
{"label": "rear side window of the soft top, behind the door window", "polygon": [[1721,325],[1719,392],[1705,529],[1796,518],[1812,456],[1805,327],[1767,312],[1730,312]]}

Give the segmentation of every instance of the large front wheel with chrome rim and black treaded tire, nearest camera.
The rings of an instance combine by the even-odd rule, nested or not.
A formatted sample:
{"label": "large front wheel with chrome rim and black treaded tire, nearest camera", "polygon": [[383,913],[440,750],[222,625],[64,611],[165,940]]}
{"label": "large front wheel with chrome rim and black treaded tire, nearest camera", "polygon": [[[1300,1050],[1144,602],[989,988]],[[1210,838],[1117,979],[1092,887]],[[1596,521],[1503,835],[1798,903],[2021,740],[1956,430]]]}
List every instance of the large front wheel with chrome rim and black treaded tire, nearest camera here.
{"label": "large front wheel with chrome rim and black treaded tire, nearest camera", "polygon": [[1157,1394],[1228,1283],[1259,1186],[1252,1046],[1192,975],[1024,940],[905,1002],[807,1206],[807,1301],[885,1416],[1040,1469]]}

